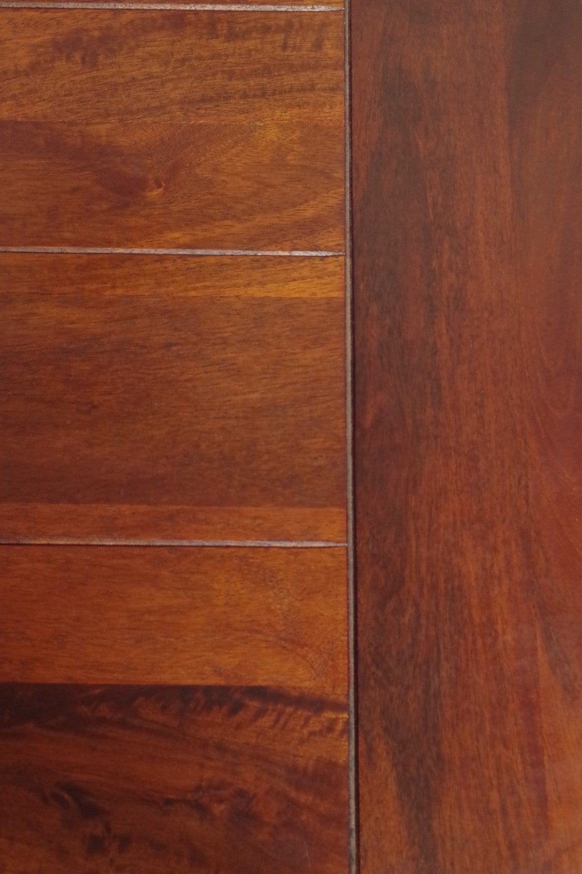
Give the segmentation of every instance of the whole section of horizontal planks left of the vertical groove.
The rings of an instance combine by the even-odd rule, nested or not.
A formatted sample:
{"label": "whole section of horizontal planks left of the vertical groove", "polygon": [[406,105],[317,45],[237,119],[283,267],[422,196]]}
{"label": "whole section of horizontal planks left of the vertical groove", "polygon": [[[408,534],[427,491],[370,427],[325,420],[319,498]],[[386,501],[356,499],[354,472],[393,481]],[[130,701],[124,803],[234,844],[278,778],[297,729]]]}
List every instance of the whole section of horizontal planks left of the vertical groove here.
{"label": "whole section of horizontal planks left of the vertical groove", "polygon": [[0,874],[348,874],[330,4],[0,3]]}

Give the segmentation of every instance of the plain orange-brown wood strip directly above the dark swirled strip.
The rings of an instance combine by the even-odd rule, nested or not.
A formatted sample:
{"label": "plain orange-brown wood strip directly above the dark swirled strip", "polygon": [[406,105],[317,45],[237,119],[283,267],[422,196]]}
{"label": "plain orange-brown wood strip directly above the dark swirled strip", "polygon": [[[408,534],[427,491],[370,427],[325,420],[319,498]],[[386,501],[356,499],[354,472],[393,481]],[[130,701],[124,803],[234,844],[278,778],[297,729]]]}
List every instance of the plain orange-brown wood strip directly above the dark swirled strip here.
{"label": "plain orange-brown wood strip directly above the dark swirled strip", "polygon": [[1,546],[0,680],[346,694],[330,549]]}

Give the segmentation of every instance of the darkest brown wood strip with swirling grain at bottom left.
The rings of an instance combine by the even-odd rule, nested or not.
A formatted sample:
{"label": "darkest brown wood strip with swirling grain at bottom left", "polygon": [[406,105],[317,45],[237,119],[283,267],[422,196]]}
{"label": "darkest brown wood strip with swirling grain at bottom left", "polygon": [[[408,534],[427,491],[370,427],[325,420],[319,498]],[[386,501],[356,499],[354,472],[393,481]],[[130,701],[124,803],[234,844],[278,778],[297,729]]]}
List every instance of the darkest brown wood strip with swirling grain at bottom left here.
{"label": "darkest brown wood strip with swirling grain at bottom left", "polygon": [[343,701],[0,686],[10,874],[347,874]]}

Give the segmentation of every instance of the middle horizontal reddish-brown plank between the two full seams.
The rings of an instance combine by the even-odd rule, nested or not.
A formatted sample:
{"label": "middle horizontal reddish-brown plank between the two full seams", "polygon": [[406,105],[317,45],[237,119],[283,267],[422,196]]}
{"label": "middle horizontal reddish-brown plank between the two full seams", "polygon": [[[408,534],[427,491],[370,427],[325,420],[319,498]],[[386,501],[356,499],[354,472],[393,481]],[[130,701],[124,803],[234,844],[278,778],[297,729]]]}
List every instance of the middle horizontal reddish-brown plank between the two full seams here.
{"label": "middle horizontal reddish-brown plank between the two full seams", "polygon": [[0,539],[345,541],[343,259],[0,254]]}

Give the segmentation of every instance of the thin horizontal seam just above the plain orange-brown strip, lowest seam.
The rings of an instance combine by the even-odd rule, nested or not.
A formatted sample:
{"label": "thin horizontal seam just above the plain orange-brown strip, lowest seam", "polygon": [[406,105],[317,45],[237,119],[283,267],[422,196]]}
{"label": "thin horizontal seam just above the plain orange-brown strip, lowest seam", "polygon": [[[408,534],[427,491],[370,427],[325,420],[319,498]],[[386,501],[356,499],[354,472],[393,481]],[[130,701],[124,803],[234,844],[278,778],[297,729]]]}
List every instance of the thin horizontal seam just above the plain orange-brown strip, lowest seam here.
{"label": "thin horizontal seam just above the plain orange-brown strip, lowest seam", "polygon": [[267,549],[333,549],[346,543],[332,540],[141,540],[137,538],[0,538],[3,546],[208,546]]}

